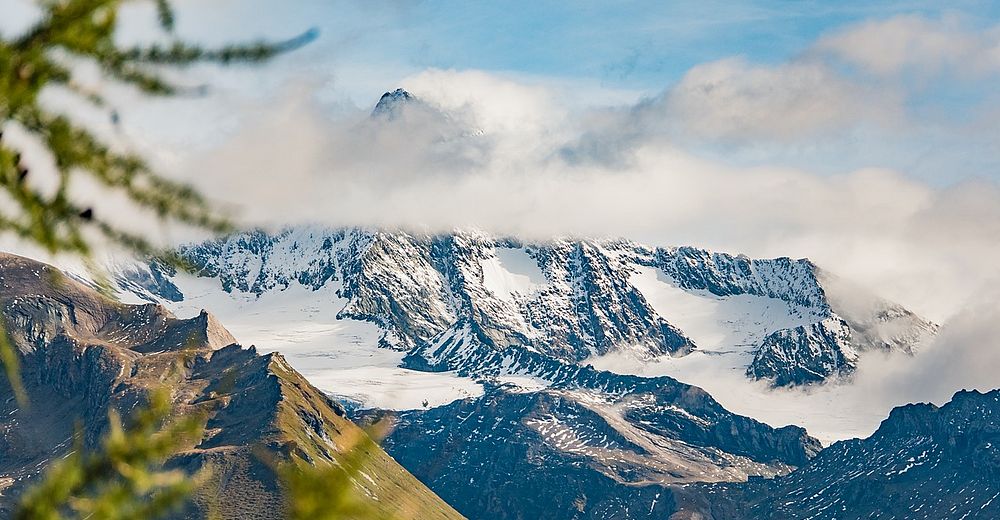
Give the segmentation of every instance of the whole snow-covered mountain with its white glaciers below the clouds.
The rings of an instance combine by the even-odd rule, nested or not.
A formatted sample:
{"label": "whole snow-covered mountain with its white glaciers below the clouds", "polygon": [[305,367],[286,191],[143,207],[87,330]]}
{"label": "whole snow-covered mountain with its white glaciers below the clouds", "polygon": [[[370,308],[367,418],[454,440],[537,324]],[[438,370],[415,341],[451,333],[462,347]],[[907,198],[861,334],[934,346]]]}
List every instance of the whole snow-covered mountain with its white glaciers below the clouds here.
{"label": "whole snow-covered mountain with its white glaciers below the clouds", "polygon": [[[123,297],[135,292],[180,317],[207,309],[242,343],[281,352],[317,387],[365,408],[480,396],[484,377],[538,391],[569,373],[560,363],[578,363],[670,376],[733,412],[800,425],[829,443],[870,434],[901,404],[867,399],[836,370],[838,359],[863,365],[855,352],[909,354],[936,330],[807,260],[622,240],[521,243],[479,232],[304,227],[183,252],[211,276],[168,275],[166,285],[155,276],[119,278]],[[157,292],[169,284],[181,301]],[[826,322],[850,335],[810,336]],[[820,374],[821,384],[774,388],[748,377],[765,346],[765,368],[833,370]],[[407,353],[450,371],[403,368]],[[802,353],[814,357],[796,357]]]}

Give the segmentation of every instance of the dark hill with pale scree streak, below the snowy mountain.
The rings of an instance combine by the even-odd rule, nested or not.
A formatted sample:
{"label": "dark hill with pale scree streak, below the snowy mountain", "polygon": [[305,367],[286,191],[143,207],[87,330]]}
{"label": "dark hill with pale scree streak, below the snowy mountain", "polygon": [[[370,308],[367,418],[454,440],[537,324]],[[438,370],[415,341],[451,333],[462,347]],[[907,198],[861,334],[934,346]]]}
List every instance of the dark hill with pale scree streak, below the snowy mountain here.
{"label": "dark hill with pale scree streak, below the snowy mountain", "polygon": [[669,378],[585,371],[528,385],[489,385],[479,398],[402,412],[385,447],[483,519],[663,518],[674,507],[671,484],[773,477],[819,449],[801,428],[731,414]]}

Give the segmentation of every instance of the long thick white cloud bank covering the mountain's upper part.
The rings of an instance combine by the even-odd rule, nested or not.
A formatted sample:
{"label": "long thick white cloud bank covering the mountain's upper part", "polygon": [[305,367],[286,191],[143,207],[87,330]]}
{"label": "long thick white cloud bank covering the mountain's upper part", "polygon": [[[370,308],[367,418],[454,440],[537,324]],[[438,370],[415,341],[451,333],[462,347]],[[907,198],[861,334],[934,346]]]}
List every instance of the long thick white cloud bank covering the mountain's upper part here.
{"label": "long thick white cloud bank covering the mountain's upper part", "polygon": [[367,110],[331,118],[308,89],[293,90],[181,170],[253,224],[477,226],[808,256],[936,320],[996,272],[993,182],[940,190],[886,169],[736,168],[663,140],[636,141],[622,163],[567,161],[558,151],[600,117],[505,78],[496,90],[507,94],[493,97],[489,75],[471,77],[419,78],[428,108],[389,124]]}

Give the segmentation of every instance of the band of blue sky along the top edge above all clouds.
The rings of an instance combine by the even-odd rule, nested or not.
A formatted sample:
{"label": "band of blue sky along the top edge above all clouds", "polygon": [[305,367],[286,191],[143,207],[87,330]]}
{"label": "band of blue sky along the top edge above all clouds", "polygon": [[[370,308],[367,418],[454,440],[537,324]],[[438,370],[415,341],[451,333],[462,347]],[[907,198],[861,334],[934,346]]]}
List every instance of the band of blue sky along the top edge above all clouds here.
{"label": "band of blue sky along the top edge above all clouds", "polygon": [[762,63],[794,57],[823,33],[863,20],[948,13],[970,26],[1000,20],[1000,3],[975,0],[179,4],[182,31],[206,41],[317,27],[320,40],[302,53],[310,60],[394,69],[400,77],[426,68],[481,69],[650,92],[692,66],[727,56]]}

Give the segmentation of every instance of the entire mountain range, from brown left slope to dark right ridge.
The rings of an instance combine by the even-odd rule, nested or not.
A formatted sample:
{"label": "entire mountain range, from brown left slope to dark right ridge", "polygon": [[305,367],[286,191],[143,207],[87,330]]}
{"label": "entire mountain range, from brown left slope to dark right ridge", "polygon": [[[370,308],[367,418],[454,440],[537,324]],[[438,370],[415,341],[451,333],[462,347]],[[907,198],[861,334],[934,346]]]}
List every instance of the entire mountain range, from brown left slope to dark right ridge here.
{"label": "entire mountain range, from brown left slope to dark right ridge", "polygon": [[[595,368],[620,354],[700,355],[745,362],[743,377],[772,385],[850,384],[858,352],[905,355],[936,332],[807,260],[624,240],[322,228],[242,233],[180,253],[200,276],[157,261],[113,266],[122,299],[147,300],[141,305],[0,257],[0,303],[29,393],[60,403],[39,413],[6,400],[2,507],[70,449],[76,420],[96,442],[109,407],[127,412],[180,361],[175,406],[206,411],[209,422],[205,438],[171,464],[223,468],[212,494],[233,504],[230,517],[280,514],[273,504],[281,487],[254,449],[330,463],[345,439],[363,435],[352,421],[386,415],[396,423],[386,451],[365,469],[370,485],[358,483],[383,511],[473,519],[995,514],[997,392],[897,408],[869,438],[823,448],[802,428],[732,413],[673,377]],[[270,305],[248,320],[271,325],[281,317],[275,308],[307,301],[309,319],[346,326],[267,331],[289,346],[286,361],[239,346],[211,314],[190,312],[189,304],[208,301],[223,311]],[[472,380],[479,390],[393,412],[345,400],[350,389],[331,387],[335,380],[317,377],[326,383],[320,391],[295,369],[349,364],[341,353],[350,350],[390,353],[399,370]],[[766,366],[774,369],[765,377],[758,369]],[[199,497],[185,515],[203,515],[207,503]]]}

